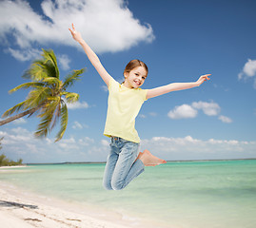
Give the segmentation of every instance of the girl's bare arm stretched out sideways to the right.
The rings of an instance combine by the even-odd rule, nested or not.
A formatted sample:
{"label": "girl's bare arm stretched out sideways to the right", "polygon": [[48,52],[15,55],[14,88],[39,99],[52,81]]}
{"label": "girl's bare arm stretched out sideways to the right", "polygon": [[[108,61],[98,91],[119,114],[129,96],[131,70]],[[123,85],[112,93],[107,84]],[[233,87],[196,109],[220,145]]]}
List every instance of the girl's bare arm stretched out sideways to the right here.
{"label": "girl's bare arm stretched out sideways to the right", "polygon": [[208,76],[210,74],[202,75],[196,82],[194,83],[172,83],[152,89],[148,89],[147,99],[157,97],[168,92],[183,90],[187,88],[192,88],[195,86],[199,86],[203,84],[205,81],[209,80]]}

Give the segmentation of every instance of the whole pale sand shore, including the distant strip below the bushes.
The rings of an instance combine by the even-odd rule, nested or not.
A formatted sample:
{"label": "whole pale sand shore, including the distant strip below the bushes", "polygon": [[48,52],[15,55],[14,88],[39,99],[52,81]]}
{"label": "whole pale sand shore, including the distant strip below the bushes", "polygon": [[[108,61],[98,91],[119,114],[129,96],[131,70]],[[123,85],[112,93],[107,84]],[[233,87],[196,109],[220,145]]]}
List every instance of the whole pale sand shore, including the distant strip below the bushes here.
{"label": "whole pale sand shore, including the distant strip below the bushes", "polygon": [[[16,168],[17,167],[17,168]],[[7,166],[1,173],[30,172],[27,166]],[[11,169],[12,168],[12,169]],[[24,169],[20,169],[24,168]],[[158,222],[134,217],[112,209],[57,199],[21,187],[8,180],[0,180],[0,220],[5,228],[167,228]],[[1,226],[2,227],[2,226]]]}

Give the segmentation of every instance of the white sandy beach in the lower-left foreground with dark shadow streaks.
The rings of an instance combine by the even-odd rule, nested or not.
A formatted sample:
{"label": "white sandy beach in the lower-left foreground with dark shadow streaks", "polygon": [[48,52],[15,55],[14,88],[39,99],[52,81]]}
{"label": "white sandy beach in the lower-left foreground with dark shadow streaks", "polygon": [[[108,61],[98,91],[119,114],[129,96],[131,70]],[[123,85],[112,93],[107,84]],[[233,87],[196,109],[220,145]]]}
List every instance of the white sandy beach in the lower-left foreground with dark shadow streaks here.
{"label": "white sandy beach in the lower-left foreground with dark shadow streaks", "polygon": [[89,211],[81,209],[79,212],[79,207],[75,209],[69,206],[69,203],[25,193],[16,186],[0,182],[0,226],[2,228],[130,227],[118,223],[118,220],[108,217],[108,214],[104,217],[99,213],[96,218],[90,217]]}

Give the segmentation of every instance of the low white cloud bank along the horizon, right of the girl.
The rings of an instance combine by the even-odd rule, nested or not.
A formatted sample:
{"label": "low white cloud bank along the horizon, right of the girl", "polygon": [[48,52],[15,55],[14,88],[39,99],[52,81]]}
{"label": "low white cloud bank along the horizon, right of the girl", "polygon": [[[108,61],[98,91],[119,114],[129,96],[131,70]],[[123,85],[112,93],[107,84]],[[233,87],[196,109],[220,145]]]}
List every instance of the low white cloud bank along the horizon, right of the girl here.
{"label": "low white cloud bank along the horizon, right of the girl", "polygon": [[142,150],[166,160],[242,159],[256,157],[256,142],[153,137],[141,142]]}

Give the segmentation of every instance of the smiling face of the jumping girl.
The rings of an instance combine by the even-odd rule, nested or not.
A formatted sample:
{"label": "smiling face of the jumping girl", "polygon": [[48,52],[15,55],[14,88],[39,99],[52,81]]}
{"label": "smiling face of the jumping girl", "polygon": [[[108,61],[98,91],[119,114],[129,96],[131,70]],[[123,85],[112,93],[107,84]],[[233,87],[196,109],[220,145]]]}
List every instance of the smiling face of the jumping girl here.
{"label": "smiling face of the jumping girl", "polygon": [[144,84],[145,79],[147,78],[147,71],[143,66],[137,66],[125,72],[125,83],[124,85],[128,88],[138,88]]}

